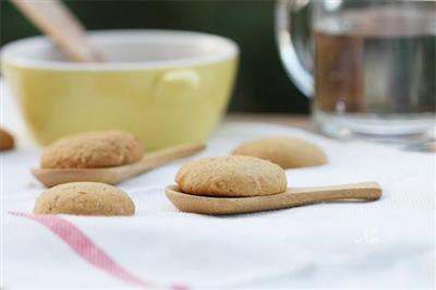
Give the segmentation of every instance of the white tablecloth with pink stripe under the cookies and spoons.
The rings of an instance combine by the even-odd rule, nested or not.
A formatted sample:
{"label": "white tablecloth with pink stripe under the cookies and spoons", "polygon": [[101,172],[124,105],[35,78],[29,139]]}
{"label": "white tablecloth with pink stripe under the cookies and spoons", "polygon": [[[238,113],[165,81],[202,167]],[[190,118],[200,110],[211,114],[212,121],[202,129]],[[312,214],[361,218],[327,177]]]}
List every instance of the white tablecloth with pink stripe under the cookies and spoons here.
{"label": "white tablecloth with pink stripe under the cookies and spoons", "polygon": [[[2,124],[23,134],[4,98]],[[44,188],[28,172],[39,149],[22,143],[1,154],[1,288],[435,287],[434,154],[226,123],[195,158],[274,134],[313,141],[329,158],[327,166],[288,170],[289,185],[378,181],[383,198],[225,217],[184,214],[162,191],[183,160],[120,184],[136,204],[133,217],[40,217],[29,214]]]}

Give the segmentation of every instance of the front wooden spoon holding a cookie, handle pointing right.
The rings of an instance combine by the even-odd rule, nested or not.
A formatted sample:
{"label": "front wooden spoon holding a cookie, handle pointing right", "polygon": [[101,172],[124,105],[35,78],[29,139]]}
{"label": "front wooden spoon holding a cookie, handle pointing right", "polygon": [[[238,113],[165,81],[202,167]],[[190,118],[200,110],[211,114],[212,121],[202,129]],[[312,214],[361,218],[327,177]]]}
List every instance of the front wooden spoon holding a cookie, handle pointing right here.
{"label": "front wooden spoon holding a cookie, handle pointing right", "polygon": [[253,197],[210,197],[180,192],[177,185],[166,189],[171,203],[182,212],[228,215],[281,209],[331,201],[376,201],[382,188],[376,182],[288,189],[283,193]]}

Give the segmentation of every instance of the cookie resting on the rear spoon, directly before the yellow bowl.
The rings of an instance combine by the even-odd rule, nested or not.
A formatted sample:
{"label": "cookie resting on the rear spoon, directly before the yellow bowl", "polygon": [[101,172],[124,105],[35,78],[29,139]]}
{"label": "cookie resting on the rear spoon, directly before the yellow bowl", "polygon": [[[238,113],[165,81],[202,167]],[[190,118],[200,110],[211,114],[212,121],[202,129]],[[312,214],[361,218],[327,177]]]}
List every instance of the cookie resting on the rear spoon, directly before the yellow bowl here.
{"label": "cookie resting on the rear spoon, directly before the yellow bowl", "polygon": [[123,131],[96,131],[66,136],[43,153],[41,168],[99,168],[141,160],[144,147]]}

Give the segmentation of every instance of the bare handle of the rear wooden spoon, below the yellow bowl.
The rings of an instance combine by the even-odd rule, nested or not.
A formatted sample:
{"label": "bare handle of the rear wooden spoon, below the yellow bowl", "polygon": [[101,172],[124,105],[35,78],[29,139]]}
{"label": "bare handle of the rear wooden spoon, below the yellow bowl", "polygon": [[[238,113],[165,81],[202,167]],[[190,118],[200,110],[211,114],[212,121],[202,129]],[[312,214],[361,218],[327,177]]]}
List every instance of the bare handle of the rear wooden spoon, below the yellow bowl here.
{"label": "bare handle of the rear wooden spoon, below the yellow bowl", "polygon": [[180,158],[193,156],[206,148],[204,143],[182,144],[146,154],[143,159],[131,166],[129,177],[157,168]]}

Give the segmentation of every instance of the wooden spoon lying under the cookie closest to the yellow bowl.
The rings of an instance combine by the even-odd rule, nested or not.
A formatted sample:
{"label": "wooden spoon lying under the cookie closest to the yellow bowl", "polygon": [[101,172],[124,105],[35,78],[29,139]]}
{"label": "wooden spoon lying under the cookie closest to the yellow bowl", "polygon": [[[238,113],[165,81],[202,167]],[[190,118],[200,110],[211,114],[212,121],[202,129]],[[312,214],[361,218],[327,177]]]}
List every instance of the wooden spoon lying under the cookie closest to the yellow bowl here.
{"label": "wooden spoon lying under the cookie closest to the yellow bowl", "polygon": [[183,157],[192,156],[203,150],[205,147],[204,144],[178,145],[146,154],[141,161],[117,167],[71,169],[36,168],[31,171],[35,178],[49,188],[74,181],[95,181],[116,184],[141,174],[146,170],[157,168]]}

